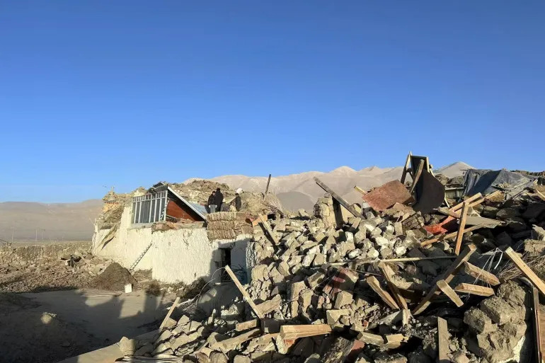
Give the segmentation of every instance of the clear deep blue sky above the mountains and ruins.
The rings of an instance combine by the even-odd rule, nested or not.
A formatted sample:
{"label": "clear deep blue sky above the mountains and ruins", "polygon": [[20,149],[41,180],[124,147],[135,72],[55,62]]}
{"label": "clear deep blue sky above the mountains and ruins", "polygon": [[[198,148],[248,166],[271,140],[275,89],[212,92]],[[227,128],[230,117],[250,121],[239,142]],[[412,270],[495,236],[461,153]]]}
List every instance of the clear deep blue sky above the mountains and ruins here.
{"label": "clear deep blue sky above the mountains and ruins", "polygon": [[544,170],[544,19],[541,0],[3,0],[0,201],[409,150]]}

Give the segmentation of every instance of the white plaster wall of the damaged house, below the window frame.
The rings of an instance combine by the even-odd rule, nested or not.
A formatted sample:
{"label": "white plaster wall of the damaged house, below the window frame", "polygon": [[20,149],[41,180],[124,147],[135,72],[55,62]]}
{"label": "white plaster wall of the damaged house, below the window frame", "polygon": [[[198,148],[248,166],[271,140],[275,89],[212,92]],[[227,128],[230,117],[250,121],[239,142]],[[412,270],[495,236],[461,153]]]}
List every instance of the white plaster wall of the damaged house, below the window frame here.
{"label": "white plaster wall of the damaged house, below the window frame", "polygon": [[[231,265],[248,268],[246,247],[251,235],[239,236],[235,240],[209,241],[205,228],[156,231],[152,234],[149,226],[131,227],[130,207],[125,207],[113,240],[98,249],[108,231],[99,230],[94,234],[94,254],[111,258],[129,268],[151,242],[151,248],[135,270],[151,269],[152,277],[162,282],[190,284],[199,277],[209,280],[217,270],[219,248],[231,248]],[[214,277],[219,278],[219,273]]]}

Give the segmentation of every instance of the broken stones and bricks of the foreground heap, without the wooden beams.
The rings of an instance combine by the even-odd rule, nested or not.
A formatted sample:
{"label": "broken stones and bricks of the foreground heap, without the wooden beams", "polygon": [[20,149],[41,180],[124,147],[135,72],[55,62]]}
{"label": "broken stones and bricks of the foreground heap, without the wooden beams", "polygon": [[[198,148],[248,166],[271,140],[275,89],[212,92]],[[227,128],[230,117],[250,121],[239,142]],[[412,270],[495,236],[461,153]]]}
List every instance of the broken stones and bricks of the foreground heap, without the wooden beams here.
{"label": "broken stones and bricks of the foreground heap, without the wooden beams", "polygon": [[[278,245],[259,224],[253,228],[248,248],[260,263],[251,269],[251,282],[244,288],[265,315],[258,323],[236,329],[256,319],[251,306],[238,298],[202,320],[183,315],[149,340],[120,345],[130,347],[127,355],[176,356],[184,362],[435,362],[441,316],[447,319],[451,362],[520,362],[533,349],[529,294],[515,280],[502,281],[490,297],[458,293],[461,308],[443,294],[437,298],[440,304],[415,316],[391,309],[366,282],[377,277],[381,288],[391,292],[377,267],[379,260],[435,257],[389,265],[394,271],[391,283],[403,292],[410,309],[418,304],[454,260],[439,259],[453,255],[452,241],[420,246],[433,237],[423,226],[444,216],[422,216],[396,206],[377,213],[363,203],[354,205],[362,212],[354,217],[335,205],[326,195],[311,216],[304,211],[270,215]],[[471,263],[498,274],[508,265],[503,258],[497,269],[491,268],[490,261],[498,261],[498,248],[520,250],[545,241],[544,206],[532,195],[522,195],[507,202],[486,200],[471,209],[470,215],[505,221],[495,229],[464,235],[464,244],[477,247]],[[545,271],[535,272],[543,277]],[[481,284],[459,269],[450,285],[461,282]],[[280,333],[287,325],[323,324],[331,333],[297,340],[285,340]]]}

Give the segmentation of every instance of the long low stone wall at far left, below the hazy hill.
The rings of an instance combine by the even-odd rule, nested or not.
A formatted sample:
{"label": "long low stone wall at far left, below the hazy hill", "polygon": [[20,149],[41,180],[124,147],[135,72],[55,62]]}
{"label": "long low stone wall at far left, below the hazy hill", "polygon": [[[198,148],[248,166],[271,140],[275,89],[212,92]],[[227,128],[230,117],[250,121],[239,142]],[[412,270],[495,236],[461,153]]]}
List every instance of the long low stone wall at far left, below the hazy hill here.
{"label": "long low stone wall at far left, below the hazy hill", "polygon": [[0,265],[25,266],[41,260],[59,260],[64,255],[84,255],[91,242],[55,243],[33,246],[0,247]]}

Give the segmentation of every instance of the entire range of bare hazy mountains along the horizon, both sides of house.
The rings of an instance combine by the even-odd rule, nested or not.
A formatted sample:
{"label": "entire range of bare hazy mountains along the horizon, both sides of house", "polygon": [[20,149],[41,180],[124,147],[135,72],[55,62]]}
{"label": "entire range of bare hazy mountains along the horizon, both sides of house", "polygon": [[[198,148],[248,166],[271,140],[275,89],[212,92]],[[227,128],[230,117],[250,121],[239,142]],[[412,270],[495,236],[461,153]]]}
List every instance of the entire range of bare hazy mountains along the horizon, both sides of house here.
{"label": "entire range of bare hazy mountains along the horizon, both sides of house", "polygon": [[[468,168],[473,167],[457,162],[439,168],[435,173],[454,178],[462,175]],[[304,208],[311,211],[316,200],[323,195],[323,190],[314,183],[315,176],[349,202],[357,202],[361,200],[361,195],[354,190],[355,185],[369,190],[390,180],[399,179],[402,171],[401,166],[396,168],[371,166],[360,171],[341,166],[328,173],[308,171],[274,176],[270,179],[269,192],[276,194],[286,209]],[[195,179],[190,178],[185,182]],[[233,189],[264,192],[267,179],[266,176],[223,175],[211,180],[226,183]],[[93,235],[94,221],[101,213],[102,204],[100,199],[53,204],[0,202],[0,239],[11,241],[13,236],[13,241],[89,240]]]}

